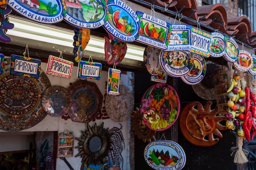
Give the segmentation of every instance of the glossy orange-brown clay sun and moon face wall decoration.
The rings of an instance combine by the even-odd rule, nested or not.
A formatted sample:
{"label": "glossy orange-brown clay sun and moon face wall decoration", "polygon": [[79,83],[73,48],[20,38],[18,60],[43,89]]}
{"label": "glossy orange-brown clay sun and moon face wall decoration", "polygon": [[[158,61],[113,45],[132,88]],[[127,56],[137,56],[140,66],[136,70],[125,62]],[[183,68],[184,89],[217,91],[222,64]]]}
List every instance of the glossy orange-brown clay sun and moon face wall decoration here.
{"label": "glossy orange-brown clay sun and moon face wall decoration", "polygon": [[[184,137],[197,146],[215,145],[222,134],[219,130],[227,127],[220,124],[227,118],[223,115],[217,116],[218,108],[211,110],[212,102],[207,102],[203,108],[200,102],[190,102],[180,115],[180,128]],[[197,108],[196,108],[197,107]],[[219,138],[215,138],[215,137]]]}

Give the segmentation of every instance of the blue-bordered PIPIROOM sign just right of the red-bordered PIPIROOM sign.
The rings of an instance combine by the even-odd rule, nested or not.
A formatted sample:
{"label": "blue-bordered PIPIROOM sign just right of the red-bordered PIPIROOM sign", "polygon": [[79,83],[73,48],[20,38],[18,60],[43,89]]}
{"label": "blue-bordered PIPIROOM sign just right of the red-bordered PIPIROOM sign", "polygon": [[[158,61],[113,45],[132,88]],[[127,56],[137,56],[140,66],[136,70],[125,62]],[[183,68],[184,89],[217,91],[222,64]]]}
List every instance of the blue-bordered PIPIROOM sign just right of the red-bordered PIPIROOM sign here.
{"label": "blue-bordered PIPIROOM sign just right of the red-bordered PIPIROOM sign", "polygon": [[100,79],[102,64],[98,62],[80,61],[78,63],[78,78]]}

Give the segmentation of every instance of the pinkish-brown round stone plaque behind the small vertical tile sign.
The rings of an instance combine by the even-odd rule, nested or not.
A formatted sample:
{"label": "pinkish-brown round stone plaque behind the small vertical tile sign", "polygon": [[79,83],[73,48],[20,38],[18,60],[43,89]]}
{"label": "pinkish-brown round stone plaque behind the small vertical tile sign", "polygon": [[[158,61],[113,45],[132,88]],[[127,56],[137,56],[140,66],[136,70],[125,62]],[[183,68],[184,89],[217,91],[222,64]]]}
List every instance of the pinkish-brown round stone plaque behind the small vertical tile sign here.
{"label": "pinkish-brown round stone plaque behind the small vertical tile sign", "polygon": [[119,95],[107,95],[105,108],[110,119],[114,121],[128,120],[134,108],[134,97],[130,89],[120,85]]}

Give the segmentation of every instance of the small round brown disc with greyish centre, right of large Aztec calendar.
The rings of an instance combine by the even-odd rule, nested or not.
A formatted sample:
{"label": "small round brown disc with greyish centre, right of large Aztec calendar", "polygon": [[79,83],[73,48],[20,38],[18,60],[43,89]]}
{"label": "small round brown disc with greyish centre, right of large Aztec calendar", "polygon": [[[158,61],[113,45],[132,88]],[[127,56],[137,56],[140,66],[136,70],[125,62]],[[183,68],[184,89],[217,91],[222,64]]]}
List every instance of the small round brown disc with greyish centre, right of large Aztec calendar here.
{"label": "small round brown disc with greyish centre, right of large Aztec calendar", "polygon": [[51,86],[44,91],[41,104],[47,114],[62,116],[70,110],[72,97],[65,87]]}

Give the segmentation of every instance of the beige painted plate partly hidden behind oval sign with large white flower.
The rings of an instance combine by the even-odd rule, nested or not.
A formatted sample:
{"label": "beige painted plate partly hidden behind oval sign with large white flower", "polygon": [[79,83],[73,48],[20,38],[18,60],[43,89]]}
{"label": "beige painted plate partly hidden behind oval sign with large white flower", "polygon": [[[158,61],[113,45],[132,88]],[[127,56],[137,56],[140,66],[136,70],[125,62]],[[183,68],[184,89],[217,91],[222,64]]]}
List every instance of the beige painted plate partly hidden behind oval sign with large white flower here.
{"label": "beige painted plate partly hidden behind oval sign with large white flower", "polygon": [[158,75],[163,69],[159,62],[160,49],[146,46],[144,50],[144,64],[149,74]]}

